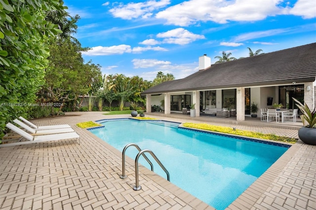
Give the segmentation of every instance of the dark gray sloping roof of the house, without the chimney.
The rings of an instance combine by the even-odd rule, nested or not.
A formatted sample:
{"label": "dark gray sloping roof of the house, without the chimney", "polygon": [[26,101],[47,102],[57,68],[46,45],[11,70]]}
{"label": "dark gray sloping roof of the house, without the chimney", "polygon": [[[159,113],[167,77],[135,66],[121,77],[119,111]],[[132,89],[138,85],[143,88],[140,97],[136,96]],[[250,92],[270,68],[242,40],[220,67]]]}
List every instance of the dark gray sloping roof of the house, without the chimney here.
{"label": "dark gray sloping roof of the house, without the chimney", "polygon": [[292,82],[312,82],[316,79],[316,43],[212,64],[183,79],[163,82],[142,94],[209,90]]}

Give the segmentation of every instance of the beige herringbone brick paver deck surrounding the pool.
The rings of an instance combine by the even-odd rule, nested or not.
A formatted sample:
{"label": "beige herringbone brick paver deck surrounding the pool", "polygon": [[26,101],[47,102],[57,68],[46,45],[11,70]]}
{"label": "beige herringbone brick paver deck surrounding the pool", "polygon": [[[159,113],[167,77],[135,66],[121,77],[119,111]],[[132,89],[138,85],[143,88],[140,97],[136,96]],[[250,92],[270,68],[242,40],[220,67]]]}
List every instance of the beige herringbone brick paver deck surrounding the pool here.
{"label": "beige herringbone brick paver deck surrounding the pool", "polygon": [[[121,151],[76,126],[79,122],[129,115],[70,112],[67,116],[34,120],[37,125],[70,124],[80,135],[59,140],[0,148],[1,210],[212,210],[165,178],[140,166],[142,189],[134,191],[134,160],[126,157],[127,178],[120,179]],[[297,138],[300,124],[267,124],[248,119],[190,118],[146,114],[176,122],[205,122]],[[261,175],[229,210],[315,210],[316,146],[298,141]]]}

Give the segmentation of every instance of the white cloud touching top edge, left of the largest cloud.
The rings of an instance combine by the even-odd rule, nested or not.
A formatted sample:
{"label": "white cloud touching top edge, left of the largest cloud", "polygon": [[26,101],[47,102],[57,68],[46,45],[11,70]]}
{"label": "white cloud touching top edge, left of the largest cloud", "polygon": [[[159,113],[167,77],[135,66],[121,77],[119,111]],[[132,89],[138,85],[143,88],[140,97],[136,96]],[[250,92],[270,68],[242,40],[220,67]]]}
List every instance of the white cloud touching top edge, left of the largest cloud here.
{"label": "white cloud touching top edge, left of the largest cloud", "polygon": [[127,4],[120,3],[118,6],[110,9],[114,17],[131,20],[133,18],[148,18],[152,12],[170,4],[170,0],[148,0],[145,2],[130,2]]}

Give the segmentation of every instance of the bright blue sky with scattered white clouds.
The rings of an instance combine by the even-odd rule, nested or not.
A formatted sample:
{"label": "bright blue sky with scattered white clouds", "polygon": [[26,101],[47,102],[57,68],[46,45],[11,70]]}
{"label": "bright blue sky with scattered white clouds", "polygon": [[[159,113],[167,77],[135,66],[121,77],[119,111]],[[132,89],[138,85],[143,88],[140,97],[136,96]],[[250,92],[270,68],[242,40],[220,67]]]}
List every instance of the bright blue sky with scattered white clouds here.
{"label": "bright blue sky with scattered white clouds", "polygon": [[316,42],[315,0],[64,0],[78,14],[85,62],[103,74],[153,80],[158,71],[176,79],[211,63],[222,51],[248,57]]}

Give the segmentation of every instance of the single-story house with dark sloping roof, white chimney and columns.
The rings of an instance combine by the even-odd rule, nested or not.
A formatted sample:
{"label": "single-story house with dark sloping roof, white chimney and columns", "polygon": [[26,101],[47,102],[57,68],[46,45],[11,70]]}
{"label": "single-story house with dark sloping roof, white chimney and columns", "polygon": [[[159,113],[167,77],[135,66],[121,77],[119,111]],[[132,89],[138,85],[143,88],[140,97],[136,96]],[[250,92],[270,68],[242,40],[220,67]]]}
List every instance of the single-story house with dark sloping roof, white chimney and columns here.
{"label": "single-story house with dark sloping roof, white chimney and columns", "polygon": [[163,82],[144,92],[146,111],[164,104],[165,114],[182,112],[195,104],[203,110],[236,110],[237,121],[250,116],[252,103],[261,108],[282,104],[293,109],[293,98],[316,106],[316,43],[212,64],[207,55],[198,59],[199,70],[183,79]]}

